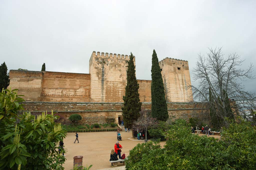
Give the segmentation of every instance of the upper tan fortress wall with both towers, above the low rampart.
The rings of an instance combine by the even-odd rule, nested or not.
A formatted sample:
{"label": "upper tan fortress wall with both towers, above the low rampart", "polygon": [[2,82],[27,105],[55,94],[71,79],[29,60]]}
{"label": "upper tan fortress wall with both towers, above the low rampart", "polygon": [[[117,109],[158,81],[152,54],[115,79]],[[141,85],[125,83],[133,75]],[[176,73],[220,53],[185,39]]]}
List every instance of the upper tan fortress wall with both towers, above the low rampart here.
{"label": "upper tan fortress wall with both towers, above the low rampart", "polygon": [[[128,55],[93,51],[89,74],[10,70],[10,85],[27,101],[123,102]],[[135,57],[134,57],[135,64]],[[159,62],[167,102],[193,101],[188,61]],[[138,80],[141,102],[151,102],[151,80]]]}

